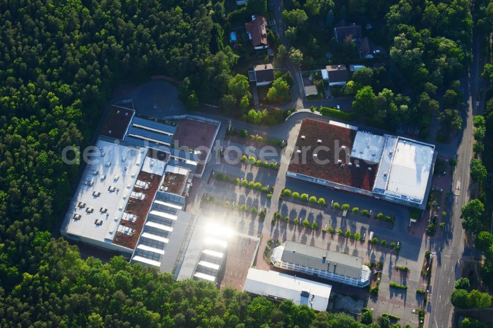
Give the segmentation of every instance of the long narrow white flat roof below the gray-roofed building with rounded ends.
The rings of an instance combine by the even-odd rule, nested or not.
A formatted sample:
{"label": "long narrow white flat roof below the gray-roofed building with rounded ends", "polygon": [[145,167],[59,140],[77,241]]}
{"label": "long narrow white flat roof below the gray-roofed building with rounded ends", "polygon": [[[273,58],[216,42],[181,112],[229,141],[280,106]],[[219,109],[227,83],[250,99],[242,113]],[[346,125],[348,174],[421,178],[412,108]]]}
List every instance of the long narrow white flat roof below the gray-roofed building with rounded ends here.
{"label": "long narrow white flat roof below the gray-roofed building with rounded ends", "polygon": [[296,305],[306,304],[314,310],[325,311],[332,286],[277,271],[249,268],[244,290],[256,295],[290,299]]}

